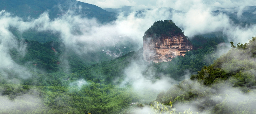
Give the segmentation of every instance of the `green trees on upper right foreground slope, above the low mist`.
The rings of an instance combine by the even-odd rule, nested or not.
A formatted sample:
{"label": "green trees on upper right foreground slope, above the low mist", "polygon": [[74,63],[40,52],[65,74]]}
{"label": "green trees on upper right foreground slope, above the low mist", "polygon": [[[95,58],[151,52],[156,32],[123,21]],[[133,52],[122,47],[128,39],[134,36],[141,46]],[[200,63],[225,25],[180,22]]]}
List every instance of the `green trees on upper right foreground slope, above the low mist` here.
{"label": "green trees on upper right foreground slope, above the low mist", "polygon": [[236,86],[245,86],[245,83],[253,81],[253,73],[250,71],[256,69],[255,61],[251,59],[255,57],[253,53],[256,49],[255,38],[249,40],[249,43],[238,43],[237,47],[231,42],[232,49],[227,54],[222,55],[214,64],[204,66],[197,75],[192,75],[191,79],[202,80],[205,85],[214,84],[217,79],[226,80],[230,77],[239,80]]}

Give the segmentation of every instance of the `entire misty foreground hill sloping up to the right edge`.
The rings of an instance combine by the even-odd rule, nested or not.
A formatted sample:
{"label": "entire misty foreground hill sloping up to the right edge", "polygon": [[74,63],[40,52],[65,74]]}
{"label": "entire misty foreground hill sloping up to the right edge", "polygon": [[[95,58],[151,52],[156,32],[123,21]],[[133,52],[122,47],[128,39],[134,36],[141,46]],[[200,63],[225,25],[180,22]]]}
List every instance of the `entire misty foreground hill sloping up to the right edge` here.
{"label": "entire misty foreground hill sloping up to the right edge", "polygon": [[254,114],[256,37],[236,46],[231,42],[231,47],[213,64],[192,75],[191,80],[161,92],[156,101],[176,111],[189,107],[191,112],[199,113]]}

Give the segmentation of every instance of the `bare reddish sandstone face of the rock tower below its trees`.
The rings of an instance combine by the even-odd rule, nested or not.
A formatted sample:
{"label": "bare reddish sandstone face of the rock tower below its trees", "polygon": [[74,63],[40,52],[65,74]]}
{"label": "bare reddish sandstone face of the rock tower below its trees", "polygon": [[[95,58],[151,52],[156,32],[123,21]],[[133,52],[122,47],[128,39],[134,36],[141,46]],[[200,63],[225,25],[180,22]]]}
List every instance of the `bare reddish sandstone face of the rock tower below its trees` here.
{"label": "bare reddish sandstone face of the rock tower below its trees", "polygon": [[170,34],[143,39],[143,55],[146,61],[167,62],[178,55],[184,56],[186,51],[191,51],[193,46],[183,33]]}

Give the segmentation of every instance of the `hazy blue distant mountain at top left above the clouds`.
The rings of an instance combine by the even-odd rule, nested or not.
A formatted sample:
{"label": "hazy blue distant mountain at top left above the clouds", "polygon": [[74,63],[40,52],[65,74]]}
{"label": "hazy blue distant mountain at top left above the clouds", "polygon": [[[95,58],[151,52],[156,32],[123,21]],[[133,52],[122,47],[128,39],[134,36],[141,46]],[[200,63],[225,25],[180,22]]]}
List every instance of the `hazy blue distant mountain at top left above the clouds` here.
{"label": "hazy blue distant mountain at top left above the clouds", "polygon": [[53,19],[67,13],[68,10],[73,11],[73,15],[95,17],[99,22],[116,20],[115,13],[76,0],[1,0],[0,10],[6,10],[25,20],[28,17],[37,18],[43,12],[49,12],[50,18]]}

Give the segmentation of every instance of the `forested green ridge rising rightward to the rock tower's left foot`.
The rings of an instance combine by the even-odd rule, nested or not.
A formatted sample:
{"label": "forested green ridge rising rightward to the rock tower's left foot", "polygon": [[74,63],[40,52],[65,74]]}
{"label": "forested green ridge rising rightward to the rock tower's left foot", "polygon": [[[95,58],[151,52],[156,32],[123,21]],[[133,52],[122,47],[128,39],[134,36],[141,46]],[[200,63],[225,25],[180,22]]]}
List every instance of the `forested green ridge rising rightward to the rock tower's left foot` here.
{"label": "forested green ridge rising rightward to the rock tower's left foot", "polygon": [[119,83],[124,78],[124,68],[129,65],[131,60],[140,59],[142,57],[141,52],[142,50],[139,50],[139,52],[130,52],[115,60],[97,63],[82,70],[78,74],[81,78],[106,84],[112,83],[118,77],[119,80],[116,81]]}

